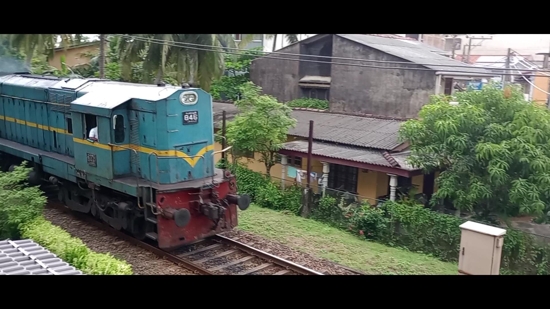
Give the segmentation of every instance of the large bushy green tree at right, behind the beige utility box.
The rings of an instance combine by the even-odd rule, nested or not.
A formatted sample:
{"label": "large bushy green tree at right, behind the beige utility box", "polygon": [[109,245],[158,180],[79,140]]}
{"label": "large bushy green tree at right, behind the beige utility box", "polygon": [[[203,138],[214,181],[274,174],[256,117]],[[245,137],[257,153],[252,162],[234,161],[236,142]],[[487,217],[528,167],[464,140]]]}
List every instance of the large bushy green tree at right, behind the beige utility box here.
{"label": "large bushy green tree at right, behind the beige utility box", "polygon": [[431,204],[447,199],[483,216],[542,214],[550,201],[550,112],[514,86],[450,100],[432,97],[420,120],[399,131],[410,142],[412,164],[443,171]]}

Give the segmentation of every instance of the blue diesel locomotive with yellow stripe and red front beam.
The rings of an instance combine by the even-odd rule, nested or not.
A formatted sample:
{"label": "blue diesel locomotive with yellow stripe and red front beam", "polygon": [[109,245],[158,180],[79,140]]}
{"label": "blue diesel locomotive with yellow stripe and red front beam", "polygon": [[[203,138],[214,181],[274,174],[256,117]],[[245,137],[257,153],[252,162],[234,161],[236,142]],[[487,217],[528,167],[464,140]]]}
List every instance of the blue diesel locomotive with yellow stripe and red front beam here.
{"label": "blue diesel locomotive with yellow stripe and red front beam", "polygon": [[215,168],[213,135],[211,96],[186,84],[0,76],[4,165],[28,161],[31,184],[161,248],[232,229],[250,203]]}

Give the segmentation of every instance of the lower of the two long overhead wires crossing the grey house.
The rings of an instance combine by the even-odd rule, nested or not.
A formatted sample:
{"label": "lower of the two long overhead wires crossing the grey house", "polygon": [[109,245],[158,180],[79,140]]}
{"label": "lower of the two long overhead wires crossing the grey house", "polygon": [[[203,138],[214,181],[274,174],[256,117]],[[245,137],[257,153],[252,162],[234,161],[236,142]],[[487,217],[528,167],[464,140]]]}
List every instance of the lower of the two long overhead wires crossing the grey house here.
{"label": "lower of the two long overhead wires crossing the grey house", "polygon": [[[189,49],[196,49],[196,50],[199,50],[199,51],[208,51],[208,52],[216,52],[216,53],[224,53],[224,54],[235,54],[235,55],[242,55],[242,53],[235,53],[235,52],[228,52],[228,51],[223,51],[223,50],[219,50],[219,49],[222,49],[223,47],[221,46],[211,46],[211,45],[208,45],[208,47],[210,48],[199,48],[199,47],[189,47],[189,46],[182,46],[182,45],[177,45],[175,44],[176,42],[171,42],[171,43],[162,43],[162,42],[155,42],[155,41],[152,41],[151,39],[149,38],[133,38],[133,37],[127,37],[127,36],[124,36],[124,35],[113,35],[113,34],[109,34],[109,36],[114,36],[114,37],[120,37],[120,38],[130,38],[132,40],[136,40],[136,41],[142,41],[142,42],[148,42],[148,43],[156,43],[156,44],[160,44],[160,45],[166,45],[166,46],[174,46],[174,47],[180,47],[180,48],[189,48]],[[179,43],[179,42],[178,42]],[[213,49],[213,48],[217,48],[217,49]],[[258,52],[258,51],[252,51],[252,52]],[[292,56],[292,55],[291,55]],[[324,63],[324,64],[337,64],[337,65],[348,65],[350,67],[362,67],[362,68],[375,68],[375,69],[403,69],[403,70],[417,70],[417,71],[436,71],[434,69],[427,69],[427,68],[408,68],[408,67],[381,67],[381,66],[378,66],[378,65],[366,65],[366,64],[356,64],[356,63],[343,63],[343,62],[327,62],[327,61],[321,61],[321,60],[307,60],[307,59],[294,59],[294,58],[283,58],[283,57],[271,57],[271,56],[261,56],[261,55],[256,55],[255,57],[259,57],[259,58],[269,58],[269,59],[278,59],[278,60],[290,60],[290,61],[298,61],[298,62],[313,62],[313,63]],[[406,64],[416,64],[416,63],[406,63]],[[470,68],[470,67],[469,67]],[[483,69],[483,68],[476,68],[476,67],[472,67],[474,69]],[[482,74],[482,75],[487,75],[487,76],[497,76],[497,75],[518,75],[518,74],[512,74],[512,73],[499,73],[499,74],[494,74],[494,73],[491,73],[491,72],[487,72],[487,73],[482,73],[482,72],[469,72],[469,71],[460,71],[460,70],[444,70],[445,73],[465,73],[465,74],[471,74],[472,76],[478,76],[477,74]],[[524,75],[524,76],[538,76],[538,75]],[[549,76],[550,77],[550,76]]]}

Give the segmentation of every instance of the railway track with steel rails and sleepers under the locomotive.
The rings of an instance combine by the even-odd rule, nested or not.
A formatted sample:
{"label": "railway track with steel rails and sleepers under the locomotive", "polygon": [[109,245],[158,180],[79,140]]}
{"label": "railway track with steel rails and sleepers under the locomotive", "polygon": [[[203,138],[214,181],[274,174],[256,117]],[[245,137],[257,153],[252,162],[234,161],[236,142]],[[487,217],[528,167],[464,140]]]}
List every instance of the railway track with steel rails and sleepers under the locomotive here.
{"label": "railway track with steel rails and sleepers under the locomotive", "polygon": [[48,205],[62,209],[64,212],[73,214],[80,220],[85,221],[97,228],[107,230],[109,233],[124,239],[133,245],[151,251],[178,266],[202,275],[322,275],[300,264],[285,260],[285,257],[278,257],[253,247],[253,243],[244,244],[238,239],[231,239],[223,235],[215,235],[211,238],[196,241],[193,244],[180,247],[173,251],[164,251],[145,241],[140,241],[130,235],[109,227],[98,220],[86,216],[83,213],[73,212],[55,198],[56,194],[47,192]]}

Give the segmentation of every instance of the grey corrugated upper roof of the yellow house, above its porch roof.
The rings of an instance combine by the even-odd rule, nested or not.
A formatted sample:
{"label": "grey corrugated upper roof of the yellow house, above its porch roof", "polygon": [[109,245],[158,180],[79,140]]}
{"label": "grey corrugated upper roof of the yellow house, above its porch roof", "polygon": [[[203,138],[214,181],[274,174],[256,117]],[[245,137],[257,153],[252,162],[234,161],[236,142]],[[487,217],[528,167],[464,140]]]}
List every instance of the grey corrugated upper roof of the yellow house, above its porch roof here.
{"label": "grey corrugated upper roof of the yellow house, above its porch roof", "polygon": [[[233,104],[213,102],[214,123],[218,129],[222,127],[223,110],[226,110],[227,121],[238,113]],[[383,150],[392,150],[401,144],[398,141],[399,125],[406,120],[309,108],[294,108],[292,116],[296,119],[296,127],[290,128],[289,135],[309,136],[309,121],[313,120],[315,140]]]}

